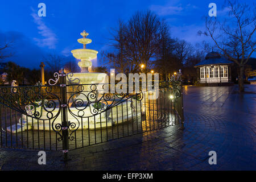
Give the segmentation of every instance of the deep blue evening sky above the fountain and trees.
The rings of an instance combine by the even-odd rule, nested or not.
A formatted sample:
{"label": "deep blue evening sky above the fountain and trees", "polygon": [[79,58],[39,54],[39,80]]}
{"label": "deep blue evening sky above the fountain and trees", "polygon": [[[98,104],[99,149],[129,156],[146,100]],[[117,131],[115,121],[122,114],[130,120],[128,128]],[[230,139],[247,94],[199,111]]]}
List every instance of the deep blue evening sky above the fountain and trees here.
{"label": "deep blue evening sky above the fountain and trees", "polygon": [[[46,4],[46,17],[37,15],[40,2]],[[13,39],[15,56],[9,60],[23,67],[39,68],[43,55],[71,56],[72,49],[82,48],[77,39],[83,30],[92,39],[87,48],[108,50],[109,31],[117,27],[118,19],[127,20],[135,11],[149,9],[167,20],[173,38],[196,44],[209,40],[198,36],[197,31],[204,30],[203,16],[208,15],[211,2],[217,5],[217,17],[224,16],[224,0],[6,0],[0,2],[0,43]]]}

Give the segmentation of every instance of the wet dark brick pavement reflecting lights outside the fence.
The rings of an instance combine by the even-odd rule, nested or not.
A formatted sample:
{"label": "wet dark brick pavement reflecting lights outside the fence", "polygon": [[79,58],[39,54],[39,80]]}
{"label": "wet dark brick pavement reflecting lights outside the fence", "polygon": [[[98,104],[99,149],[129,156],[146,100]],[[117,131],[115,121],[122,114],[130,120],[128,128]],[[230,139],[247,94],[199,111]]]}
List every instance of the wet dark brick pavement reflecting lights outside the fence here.
{"label": "wet dark brick pavement reflecting lights outside the fence", "polygon": [[[133,137],[70,151],[68,164],[59,151],[0,149],[2,170],[255,170],[256,85],[184,86],[185,130],[171,126]],[[208,152],[217,152],[209,165]]]}

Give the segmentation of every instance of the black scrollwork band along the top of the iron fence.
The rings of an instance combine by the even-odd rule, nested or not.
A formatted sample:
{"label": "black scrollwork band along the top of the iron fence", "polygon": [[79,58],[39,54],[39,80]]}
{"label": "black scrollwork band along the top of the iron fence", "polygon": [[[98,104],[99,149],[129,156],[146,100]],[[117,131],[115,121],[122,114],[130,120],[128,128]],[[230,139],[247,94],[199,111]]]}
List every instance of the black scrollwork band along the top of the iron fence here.
{"label": "black scrollwork band along the top of the iron fence", "polygon": [[[75,139],[72,134],[82,125],[79,119],[88,118],[89,126],[89,117],[104,113],[129,99],[131,100],[131,107],[134,107],[133,101],[138,104],[142,101],[145,92],[154,89],[162,89],[165,92],[166,88],[171,88],[174,100],[181,97],[180,75],[177,79],[173,77],[170,81],[158,82],[158,88],[156,88],[156,85],[152,85],[152,90],[142,91],[142,88],[140,88],[139,93],[109,93],[108,89],[104,89],[106,84],[80,84],[79,78],[72,78],[73,73],[64,74],[62,72],[59,74],[56,72],[53,76],[55,78],[49,79],[49,85],[47,86],[0,87],[0,103],[28,117],[48,120],[52,130],[59,135],[58,141],[65,137],[64,130],[70,131],[68,133],[69,140]],[[59,80],[60,85],[57,85]],[[66,81],[72,83],[72,85],[66,85]],[[67,90],[61,89],[61,85],[64,85]],[[63,102],[64,100],[65,102]],[[65,106],[61,106],[63,104]],[[75,118],[68,122],[68,125],[63,124],[64,120],[61,120],[61,117],[57,118],[60,116],[63,107],[67,108],[65,113],[69,115],[68,117],[72,115]]]}

